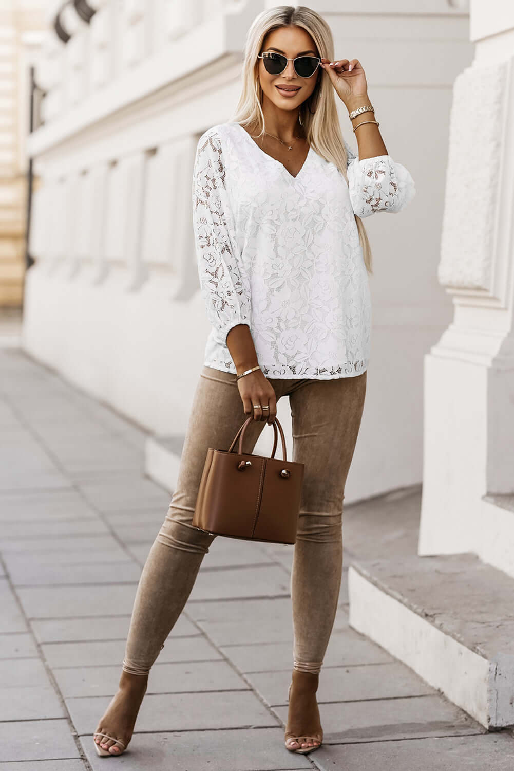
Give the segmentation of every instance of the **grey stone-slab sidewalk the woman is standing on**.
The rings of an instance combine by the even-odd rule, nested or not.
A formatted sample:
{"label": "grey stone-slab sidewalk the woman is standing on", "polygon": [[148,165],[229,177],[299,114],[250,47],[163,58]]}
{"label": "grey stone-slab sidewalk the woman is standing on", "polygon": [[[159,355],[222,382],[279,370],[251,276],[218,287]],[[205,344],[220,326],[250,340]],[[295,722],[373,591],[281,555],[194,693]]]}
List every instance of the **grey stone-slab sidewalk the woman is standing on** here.
{"label": "grey stone-slab sidewalk the woman is standing on", "polygon": [[348,625],[352,554],[414,552],[419,490],[345,508],[321,749],[283,745],[293,547],[220,537],[150,675],[129,751],[98,758],[92,731],[170,493],[144,474],[143,431],[16,348],[0,350],[0,436],[0,771],[512,769],[511,732],[488,734]]}

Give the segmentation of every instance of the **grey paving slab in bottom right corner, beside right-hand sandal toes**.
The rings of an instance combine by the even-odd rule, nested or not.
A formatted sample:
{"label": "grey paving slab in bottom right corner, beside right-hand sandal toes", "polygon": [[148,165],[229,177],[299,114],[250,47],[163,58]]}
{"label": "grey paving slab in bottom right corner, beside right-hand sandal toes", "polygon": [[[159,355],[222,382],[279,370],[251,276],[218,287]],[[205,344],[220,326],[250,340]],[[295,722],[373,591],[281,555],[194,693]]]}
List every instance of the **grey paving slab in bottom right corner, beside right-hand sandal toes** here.
{"label": "grey paving slab in bottom right corner, beside right-hand sandal toes", "polygon": [[311,758],[320,771],[512,771],[514,739],[494,732],[331,745],[321,746]]}

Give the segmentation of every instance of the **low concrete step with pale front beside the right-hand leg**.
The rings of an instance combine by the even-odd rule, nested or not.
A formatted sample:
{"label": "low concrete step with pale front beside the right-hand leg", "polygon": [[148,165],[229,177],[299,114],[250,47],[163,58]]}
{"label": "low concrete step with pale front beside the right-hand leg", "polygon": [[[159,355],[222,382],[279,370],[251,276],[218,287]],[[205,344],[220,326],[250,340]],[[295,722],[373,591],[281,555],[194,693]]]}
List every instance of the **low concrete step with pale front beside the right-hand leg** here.
{"label": "low concrete step with pale front beside the right-hand leg", "polygon": [[475,554],[351,561],[350,625],[487,729],[514,725],[514,579]]}

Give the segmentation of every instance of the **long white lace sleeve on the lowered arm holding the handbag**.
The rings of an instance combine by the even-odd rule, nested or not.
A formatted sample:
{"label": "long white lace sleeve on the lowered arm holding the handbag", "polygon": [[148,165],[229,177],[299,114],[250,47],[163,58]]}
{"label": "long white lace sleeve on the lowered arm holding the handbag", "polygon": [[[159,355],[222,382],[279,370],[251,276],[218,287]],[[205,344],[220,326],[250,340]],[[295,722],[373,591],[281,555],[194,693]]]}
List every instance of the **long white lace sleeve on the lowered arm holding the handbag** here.
{"label": "long white lace sleeve on the lowered arm holding the handbag", "polygon": [[250,284],[237,247],[220,137],[213,129],[198,140],[193,168],[193,227],[207,316],[214,338],[226,345],[232,327],[250,326]]}

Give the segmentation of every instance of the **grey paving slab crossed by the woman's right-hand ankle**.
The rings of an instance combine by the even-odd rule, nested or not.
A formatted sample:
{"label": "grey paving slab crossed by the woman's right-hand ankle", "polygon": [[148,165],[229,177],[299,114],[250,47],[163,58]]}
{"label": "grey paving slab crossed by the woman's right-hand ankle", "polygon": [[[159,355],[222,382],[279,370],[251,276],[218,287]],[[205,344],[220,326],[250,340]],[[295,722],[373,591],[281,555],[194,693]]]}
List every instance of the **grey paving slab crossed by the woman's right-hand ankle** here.
{"label": "grey paving slab crossed by the woman's right-hand ankle", "polygon": [[[324,670],[317,689],[317,701],[358,702],[364,699],[394,699],[437,693],[400,662],[331,667]],[[291,672],[255,672],[246,675],[258,694],[271,706],[287,705]]]}

